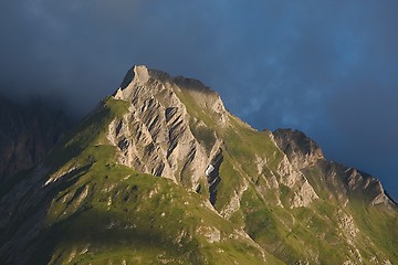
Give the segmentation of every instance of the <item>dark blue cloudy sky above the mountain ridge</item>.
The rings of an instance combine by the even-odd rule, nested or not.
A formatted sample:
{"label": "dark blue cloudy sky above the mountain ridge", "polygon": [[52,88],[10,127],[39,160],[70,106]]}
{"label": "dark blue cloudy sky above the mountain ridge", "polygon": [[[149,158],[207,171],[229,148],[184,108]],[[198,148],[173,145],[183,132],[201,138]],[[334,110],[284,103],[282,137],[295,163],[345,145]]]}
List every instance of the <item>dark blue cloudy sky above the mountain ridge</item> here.
{"label": "dark blue cloudy sky above the mountain ridge", "polygon": [[82,115],[133,64],[201,80],[258,129],[301,129],[398,199],[398,1],[13,0],[0,89]]}

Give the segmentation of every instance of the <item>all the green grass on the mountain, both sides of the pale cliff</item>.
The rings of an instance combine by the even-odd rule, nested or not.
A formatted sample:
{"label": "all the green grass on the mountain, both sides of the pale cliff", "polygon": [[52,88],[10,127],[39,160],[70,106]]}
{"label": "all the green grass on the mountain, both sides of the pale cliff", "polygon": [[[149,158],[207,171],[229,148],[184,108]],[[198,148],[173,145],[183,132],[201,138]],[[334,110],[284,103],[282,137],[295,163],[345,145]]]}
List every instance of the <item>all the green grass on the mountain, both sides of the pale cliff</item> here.
{"label": "all the green grass on the mountain, both sides of the pale cliff", "polygon": [[[127,112],[128,103],[107,98],[45,161],[52,174],[76,170],[63,177],[70,184],[59,190],[51,203],[38,239],[36,258],[50,264],[263,264],[258,248],[233,236],[243,227],[266,251],[268,264],[280,263],[272,255],[286,264],[355,259],[353,247],[342,240],[338,201],[331,197],[333,192],[325,188],[318,171],[306,173],[320,200],[308,209],[290,209],[292,191],[287,187],[276,191],[266,187],[283,156],[269,132],[250,129],[233,116],[229,129],[222,129],[188,91],[178,96],[192,117],[192,132],[208,149],[214,136],[224,140],[216,209],[221,211],[244,180],[249,183],[230,222],[205,205],[206,192],[196,194],[167,179],[115,163],[116,150],[107,145],[105,132],[114,118]],[[255,166],[259,157],[268,161],[261,176]],[[280,195],[284,208],[276,206]],[[385,258],[398,263],[396,212],[360,202],[345,211],[359,229],[355,245],[365,264],[370,264],[371,256],[380,263]],[[206,234],[214,230],[223,240],[210,243]]]}

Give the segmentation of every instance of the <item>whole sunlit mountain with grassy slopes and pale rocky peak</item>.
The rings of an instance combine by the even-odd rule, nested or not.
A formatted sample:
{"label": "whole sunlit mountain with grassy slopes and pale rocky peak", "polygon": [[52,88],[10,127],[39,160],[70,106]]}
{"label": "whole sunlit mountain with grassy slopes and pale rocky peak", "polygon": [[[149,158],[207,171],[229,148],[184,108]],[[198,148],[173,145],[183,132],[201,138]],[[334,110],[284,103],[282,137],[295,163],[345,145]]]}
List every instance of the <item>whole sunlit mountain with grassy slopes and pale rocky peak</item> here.
{"label": "whole sunlit mountain with grassy slopes and pale rocky peak", "polygon": [[0,203],[1,264],[398,264],[380,181],[146,66]]}

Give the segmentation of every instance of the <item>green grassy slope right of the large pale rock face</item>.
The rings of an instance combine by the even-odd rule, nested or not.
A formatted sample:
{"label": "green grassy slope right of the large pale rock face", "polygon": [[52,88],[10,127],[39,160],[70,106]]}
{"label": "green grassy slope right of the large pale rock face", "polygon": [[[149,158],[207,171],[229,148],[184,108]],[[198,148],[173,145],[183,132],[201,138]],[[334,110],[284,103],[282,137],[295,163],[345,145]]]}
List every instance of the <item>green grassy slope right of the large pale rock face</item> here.
{"label": "green grassy slope right of the large pale rock face", "polygon": [[[249,180],[249,188],[240,202],[242,208],[230,220],[243,226],[264,250],[287,264],[296,261],[341,264],[348,258],[358,259],[355,248],[359,250],[365,264],[370,264],[373,257],[380,263],[387,258],[392,264],[398,263],[397,212],[358,203],[352,203],[347,209],[341,208],[339,201],[333,199],[341,191],[333,191],[334,187],[321,179],[322,172],[316,170],[306,174],[320,199],[307,209],[290,209],[290,188],[281,186],[280,191],[275,191],[266,187],[266,179],[272,172],[277,174],[275,169],[283,156],[269,138],[269,132],[250,129],[233,116],[230,116],[231,126],[227,130],[220,129],[213,121],[217,117],[212,116],[211,110],[199,108],[189,91],[184,91],[179,96],[189,106],[190,115],[216,128],[214,134],[226,142],[216,209],[222,210],[233,197],[233,191],[242,187],[242,180]],[[268,161],[262,176],[259,176],[255,166],[259,157]],[[279,192],[284,208],[275,206]],[[339,210],[354,216],[355,225],[359,229],[355,240],[347,239],[349,235],[344,234],[339,226]],[[369,242],[368,237],[375,244],[366,243]],[[347,240],[353,240],[353,244]]]}

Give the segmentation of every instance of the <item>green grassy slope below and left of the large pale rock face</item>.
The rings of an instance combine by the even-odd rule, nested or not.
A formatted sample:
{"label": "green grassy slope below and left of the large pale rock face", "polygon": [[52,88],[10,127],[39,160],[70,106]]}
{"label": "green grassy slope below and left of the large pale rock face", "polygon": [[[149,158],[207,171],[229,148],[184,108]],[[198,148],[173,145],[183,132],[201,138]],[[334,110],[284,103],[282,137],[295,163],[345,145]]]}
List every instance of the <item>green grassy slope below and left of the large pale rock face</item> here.
{"label": "green grassy slope below and left of the large pale rock face", "polygon": [[[52,172],[74,170],[74,182],[53,199],[34,254],[50,264],[262,264],[237,226],[206,205],[205,195],[117,165],[107,125],[128,107],[108,98],[46,161]],[[211,243],[212,233],[221,241]],[[216,236],[217,237],[217,236]],[[272,264],[279,262],[265,253]]]}

